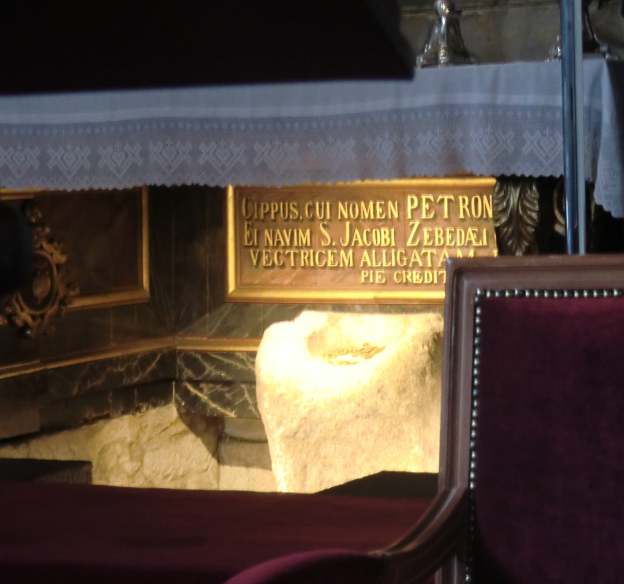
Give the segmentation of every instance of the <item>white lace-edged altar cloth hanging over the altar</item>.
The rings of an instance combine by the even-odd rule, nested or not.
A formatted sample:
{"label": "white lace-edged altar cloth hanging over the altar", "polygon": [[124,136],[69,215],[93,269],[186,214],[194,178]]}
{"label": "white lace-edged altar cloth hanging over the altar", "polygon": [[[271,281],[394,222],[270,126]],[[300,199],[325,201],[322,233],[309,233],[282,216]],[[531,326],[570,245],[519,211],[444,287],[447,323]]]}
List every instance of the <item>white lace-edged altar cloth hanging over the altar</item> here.
{"label": "white lace-edged altar cloth hanging over the altar", "polygon": [[[319,82],[0,97],[0,186],[291,185],[561,175],[560,64]],[[585,173],[624,215],[624,64],[583,67]],[[622,106],[624,107],[624,105]]]}

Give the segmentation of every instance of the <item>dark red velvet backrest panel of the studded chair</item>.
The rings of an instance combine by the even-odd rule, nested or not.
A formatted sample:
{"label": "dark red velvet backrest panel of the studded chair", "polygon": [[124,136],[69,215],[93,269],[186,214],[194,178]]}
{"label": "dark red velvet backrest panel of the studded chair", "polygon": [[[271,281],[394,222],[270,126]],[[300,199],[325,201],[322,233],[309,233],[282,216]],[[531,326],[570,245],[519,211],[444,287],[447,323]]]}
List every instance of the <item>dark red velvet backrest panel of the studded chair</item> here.
{"label": "dark red velvet backrest panel of the studded chair", "polygon": [[482,301],[475,582],[624,582],[624,299]]}

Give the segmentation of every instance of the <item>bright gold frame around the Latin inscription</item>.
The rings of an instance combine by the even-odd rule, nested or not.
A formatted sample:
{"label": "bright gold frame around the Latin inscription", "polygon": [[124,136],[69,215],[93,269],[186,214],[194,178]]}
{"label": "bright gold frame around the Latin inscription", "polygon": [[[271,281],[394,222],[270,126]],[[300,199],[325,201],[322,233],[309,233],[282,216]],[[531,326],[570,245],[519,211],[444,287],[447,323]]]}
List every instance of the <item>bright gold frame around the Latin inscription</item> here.
{"label": "bright gold frame around the Latin inscription", "polygon": [[[484,187],[492,188],[496,184],[495,177],[443,177],[443,178],[397,178],[395,180],[358,180],[353,183],[339,182],[335,185],[327,183],[306,183],[298,187],[325,187],[328,190],[340,190],[358,185],[389,186],[389,187]],[[235,185],[228,185],[225,190],[225,299],[228,302],[258,302],[278,304],[406,304],[440,305],[444,303],[444,287],[438,291],[409,290],[353,290],[345,288],[310,288],[297,289],[283,286],[243,286],[238,279],[236,265],[235,238]]]}

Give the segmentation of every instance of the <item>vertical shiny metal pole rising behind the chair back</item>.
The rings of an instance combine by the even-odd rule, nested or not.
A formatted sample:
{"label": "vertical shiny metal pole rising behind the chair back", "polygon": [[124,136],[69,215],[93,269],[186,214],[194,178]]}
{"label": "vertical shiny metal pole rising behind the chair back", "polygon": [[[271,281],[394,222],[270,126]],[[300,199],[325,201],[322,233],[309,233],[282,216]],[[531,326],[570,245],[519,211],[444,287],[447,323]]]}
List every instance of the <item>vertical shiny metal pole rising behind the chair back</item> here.
{"label": "vertical shiny metal pole rising behind the chair back", "polygon": [[581,0],[561,0],[560,6],[566,251],[584,254],[583,7]]}

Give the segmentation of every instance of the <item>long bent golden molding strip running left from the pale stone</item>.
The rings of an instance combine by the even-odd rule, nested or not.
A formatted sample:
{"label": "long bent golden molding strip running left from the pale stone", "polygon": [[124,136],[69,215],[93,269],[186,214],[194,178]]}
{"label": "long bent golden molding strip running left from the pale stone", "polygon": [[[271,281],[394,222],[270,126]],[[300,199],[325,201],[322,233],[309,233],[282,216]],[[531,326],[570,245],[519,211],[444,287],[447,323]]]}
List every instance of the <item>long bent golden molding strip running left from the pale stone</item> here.
{"label": "long bent golden molding strip running left from the pale stone", "polygon": [[113,359],[115,357],[125,357],[147,351],[158,351],[164,349],[177,349],[178,351],[197,351],[198,353],[233,353],[250,352],[255,353],[260,344],[259,338],[238,338],[238,337],[163,337],[158,339],[147,339],[145,341],[135,341],[119,345],[114,348],[100,349],[80,353],[77,355],[59,357],[54,359],[42,359],[41,361],[29,361],[28,363],[17,363],[0,367],[0,380],[48,371],[49,369],[59,369],[69,367],[89,361],[101,361],[102,359]]}

